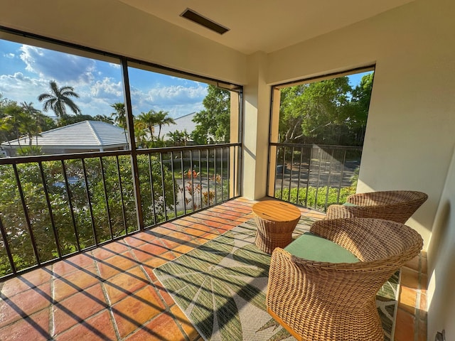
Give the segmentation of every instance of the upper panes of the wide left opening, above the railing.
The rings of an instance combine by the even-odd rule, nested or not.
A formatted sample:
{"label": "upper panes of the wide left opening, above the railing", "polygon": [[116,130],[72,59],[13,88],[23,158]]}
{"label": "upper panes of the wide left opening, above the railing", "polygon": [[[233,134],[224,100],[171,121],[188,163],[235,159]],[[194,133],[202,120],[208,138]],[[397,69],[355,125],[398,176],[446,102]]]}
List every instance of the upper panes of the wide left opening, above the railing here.
{"label": "upper panes of the wide left opening, above the railing", "polygon": [[[240,87],[127,65],[137,148],[239,141]],[[122,56],[0,32],[1,156],[129,149],[122,79]]]}

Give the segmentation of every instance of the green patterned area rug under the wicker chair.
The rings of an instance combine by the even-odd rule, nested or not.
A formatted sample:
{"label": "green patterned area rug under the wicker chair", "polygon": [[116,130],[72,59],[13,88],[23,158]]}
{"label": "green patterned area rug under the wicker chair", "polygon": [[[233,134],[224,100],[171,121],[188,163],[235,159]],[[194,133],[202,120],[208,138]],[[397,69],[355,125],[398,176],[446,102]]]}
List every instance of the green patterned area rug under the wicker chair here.
{"label": "green patterned area rug under the wicker chair", "polygon": [[[294,236],[313,221],[302,217]],[[205,340],[294,340],[266,312],[270,256],[255,246],[255,221],[245,222],[154,273]],[[393,340],[399,274],[377,297],[385,340]]]}

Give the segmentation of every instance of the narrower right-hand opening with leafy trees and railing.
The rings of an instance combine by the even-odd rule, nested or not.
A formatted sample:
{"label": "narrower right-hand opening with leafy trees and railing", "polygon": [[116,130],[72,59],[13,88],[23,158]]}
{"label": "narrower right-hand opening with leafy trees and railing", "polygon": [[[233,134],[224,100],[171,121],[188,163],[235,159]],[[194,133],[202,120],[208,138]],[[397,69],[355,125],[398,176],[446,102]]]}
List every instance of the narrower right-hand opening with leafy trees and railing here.
{"label": "narrower right-hand opening with leafy trees and railing", "polygon": [[273,90],[270,196],[325,210],[355,193],[373,67]]}

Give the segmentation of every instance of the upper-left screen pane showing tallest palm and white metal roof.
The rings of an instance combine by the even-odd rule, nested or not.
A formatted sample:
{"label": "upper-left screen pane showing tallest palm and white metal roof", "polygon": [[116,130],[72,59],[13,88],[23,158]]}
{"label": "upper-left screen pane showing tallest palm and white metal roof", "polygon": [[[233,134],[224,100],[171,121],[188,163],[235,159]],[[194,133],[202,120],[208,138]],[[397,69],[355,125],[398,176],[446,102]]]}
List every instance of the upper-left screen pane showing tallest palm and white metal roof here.
{"label": "upper-left screen pane showing tallest palm and white metal roof", "polygon": [[119,61],[56,48],[0,40],[4,153],[21,156],[128,148],[127,134],[114,125],[117,116],[112,114],[114,105],[124,102]]}

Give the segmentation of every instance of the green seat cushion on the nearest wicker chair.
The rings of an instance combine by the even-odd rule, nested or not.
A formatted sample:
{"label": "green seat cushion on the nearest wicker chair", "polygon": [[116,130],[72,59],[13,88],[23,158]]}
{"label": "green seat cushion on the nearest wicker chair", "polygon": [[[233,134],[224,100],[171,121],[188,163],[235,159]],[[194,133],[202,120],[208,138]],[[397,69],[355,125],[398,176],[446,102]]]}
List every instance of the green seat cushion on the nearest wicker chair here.
{"label": "green seat cushion on the nearest wicker chair", "polygon": [[284,249],[294,256],[311,261],[328,263],[355,263],[359,261],[345,248],[310,232],[305,232]]}

